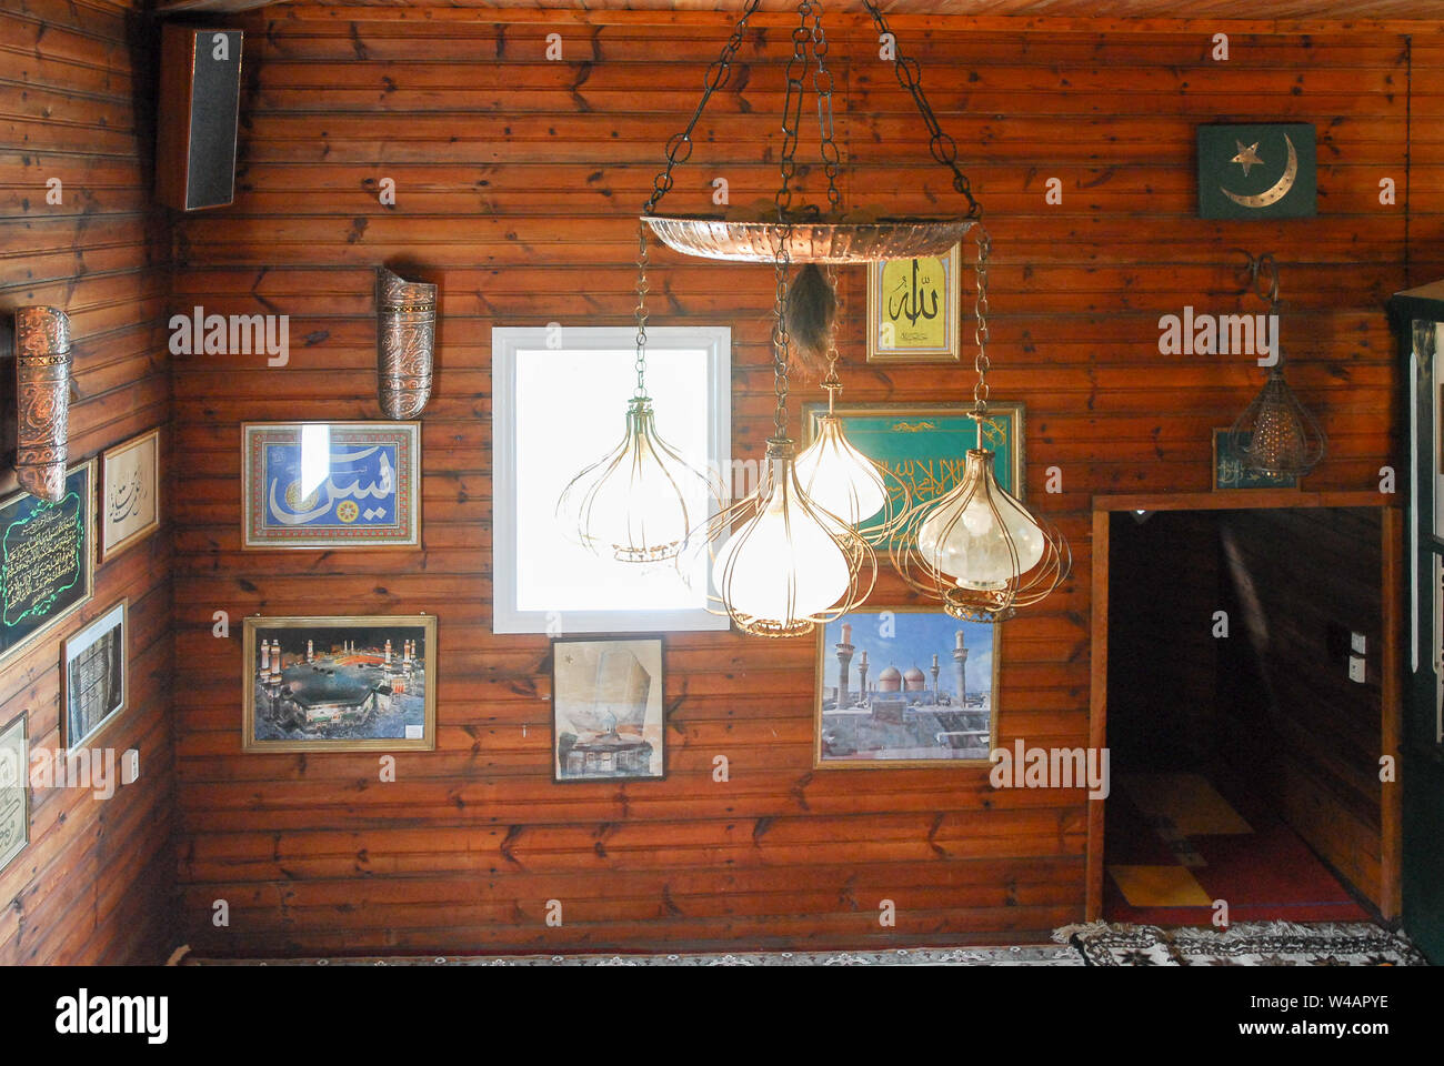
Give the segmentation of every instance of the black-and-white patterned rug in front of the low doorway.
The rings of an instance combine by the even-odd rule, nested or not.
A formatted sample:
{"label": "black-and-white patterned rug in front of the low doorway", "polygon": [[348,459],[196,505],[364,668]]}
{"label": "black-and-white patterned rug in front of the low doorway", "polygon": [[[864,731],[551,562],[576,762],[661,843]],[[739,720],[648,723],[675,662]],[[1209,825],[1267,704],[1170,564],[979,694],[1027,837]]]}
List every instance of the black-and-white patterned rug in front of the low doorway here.
{"label": "black-and-white patterned rug in front of the low doorway", "polygon": [[1053,933],[1090,966],[1427,966],[1402,933],[1365,922],[1240,922],[1214,929],[1160,929],[1093,922]]}

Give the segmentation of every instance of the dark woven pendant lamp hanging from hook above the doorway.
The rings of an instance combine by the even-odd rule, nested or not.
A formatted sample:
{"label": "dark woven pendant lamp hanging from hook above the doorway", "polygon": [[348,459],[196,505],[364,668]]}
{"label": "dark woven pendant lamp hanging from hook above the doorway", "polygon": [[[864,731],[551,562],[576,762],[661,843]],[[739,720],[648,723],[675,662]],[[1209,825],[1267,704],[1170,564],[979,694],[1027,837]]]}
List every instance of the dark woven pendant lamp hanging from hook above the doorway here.
{"label": "dark woven pendant lamp hanging from hook above the doorway", "polygon": [[[1253,290],[1268,300],[1269,315],[1275,316],[1278,263],[1274,256],[1249,256],[1248,272],[1253,279]],[[1266,296],[1259,285],[1268,286]],[[1268,370],[1264,387],[1229,429],[1229,441],[1248,472],[1282,482],[1313,471],[1328,451],[1328,438],[1284,380],[1284,345],[1276,329],[1274,357],[1275,363]]]}

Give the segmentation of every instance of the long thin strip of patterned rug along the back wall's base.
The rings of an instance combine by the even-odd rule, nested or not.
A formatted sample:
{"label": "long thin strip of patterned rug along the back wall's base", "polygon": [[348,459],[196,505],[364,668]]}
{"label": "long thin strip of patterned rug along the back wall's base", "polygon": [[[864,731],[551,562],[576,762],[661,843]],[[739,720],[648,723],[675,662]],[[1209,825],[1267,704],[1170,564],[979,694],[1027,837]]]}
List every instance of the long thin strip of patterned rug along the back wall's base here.
{"label": "long thin strip of patterned rug along the back wall's base", "polygon": [[736,952],[732,955],[448,955],[338,959],[193,959],[182,966],[1082,966],[1071,948],[914,948],[891,952]]}

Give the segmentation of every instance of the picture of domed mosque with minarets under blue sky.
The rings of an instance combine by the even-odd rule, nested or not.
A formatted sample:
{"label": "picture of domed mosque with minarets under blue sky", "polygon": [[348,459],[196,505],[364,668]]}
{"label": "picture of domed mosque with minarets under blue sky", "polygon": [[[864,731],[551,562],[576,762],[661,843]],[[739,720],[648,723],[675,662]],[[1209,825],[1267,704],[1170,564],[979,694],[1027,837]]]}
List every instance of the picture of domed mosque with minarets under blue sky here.
{"label": "picture of domed mosque with minarets under blue sky", "polygon": [[1001,627],[852,611],[817,628],[817,768],[989,766]]}

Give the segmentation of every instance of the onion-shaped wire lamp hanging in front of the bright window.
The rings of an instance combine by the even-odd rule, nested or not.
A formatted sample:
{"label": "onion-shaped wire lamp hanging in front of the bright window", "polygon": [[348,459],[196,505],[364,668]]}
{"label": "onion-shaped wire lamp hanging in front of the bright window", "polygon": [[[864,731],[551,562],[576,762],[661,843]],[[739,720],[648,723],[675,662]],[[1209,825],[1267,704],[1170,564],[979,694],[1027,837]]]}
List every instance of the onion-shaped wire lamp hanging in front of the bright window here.
{"label": "onion-shaped wire lamp hanging in front of the bright window", "polygon": [[627,432],[617,448],[562,491],[556,513],[582,546],[618,562],[671,559],[716,493],[657,436],[651,400],[627,404]]}

